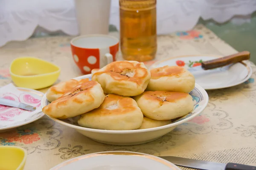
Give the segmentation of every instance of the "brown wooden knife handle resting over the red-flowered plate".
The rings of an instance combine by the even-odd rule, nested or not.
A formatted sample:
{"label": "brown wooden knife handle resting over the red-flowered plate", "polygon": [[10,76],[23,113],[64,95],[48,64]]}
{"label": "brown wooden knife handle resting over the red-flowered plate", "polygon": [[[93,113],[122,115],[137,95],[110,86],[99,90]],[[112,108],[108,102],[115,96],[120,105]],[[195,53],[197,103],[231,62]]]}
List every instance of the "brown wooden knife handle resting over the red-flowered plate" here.
{"label": "brown wooden knife handle resting over the red-flowered plate", "polygon": [[247,59],[250,59],[250,52],[242,51],[240,53],[232,54],[230,56],[202,62],[202,68],[204,70],[209,70],[212,68],[218,68],[218,67],[223,67],[225,65],[230,65],[230,64],[236,63],[236,62],[241,62],[241,61],[247,60]]}

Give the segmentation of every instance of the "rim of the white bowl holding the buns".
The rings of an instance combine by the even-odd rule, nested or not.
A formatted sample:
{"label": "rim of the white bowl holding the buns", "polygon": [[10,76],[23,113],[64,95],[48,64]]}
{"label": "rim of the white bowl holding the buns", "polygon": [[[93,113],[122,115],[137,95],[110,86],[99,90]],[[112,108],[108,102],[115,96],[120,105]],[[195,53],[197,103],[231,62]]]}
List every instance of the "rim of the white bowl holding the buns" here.
{"label": "rim of the white bowl holding the buns", "polygon": [[[85,79],[85,78],[89,78],[91,80],[91,74],[87,74],[87,75],[83,75],[83,76],[79,76],[73,79]],[[125,134],[125,133],[143,133],[143,132],[150,132],[150,131],[156,131],[156,130],[162,130],[162,129],[166,129],[169,127],[174,127],[177,125],[180,125],[184,122],[189,121],[190,119],[193,119],[195,116],[197,116],[198,114],[200,114],[202,111],[204,111],[204,109],[207,107],[208,101],[209,101],[209,96],[207,94],[207,92],[204,90],[204,88],[202,88],[200,85],[195,83],[195,88],[193,89],[193,91],[191,91],[189,93],[190,95],[193,94],[195,97],[197,97],[197,99],[195,99],[195,103],[194,103],[194,110],[188,114],[186,114],[183,117],[180,117],[179,119],[175,120],[174,122],[168,124],[168,125],[164,125],[164,126],[160,126],[160,127],[152,127],[152,128],[148,128],[148,129],[136,129],[136,130],[101,130],[101,129],[93,129],[93,128],[88,128],[88,127],[81,127],[79,125],[73,125],[68,122],[65,122],[64,120],[61,119],[57,119],[57,118],[53,118],[51,116],[48,116],[50,119],[54,120],[55,122],[60,123],[61,125],[67,126],[67,127],[71,127],[73,129],[76,130],[83,130],[83,131],[90,131],[90,132],[96,132],[96,133],[108,133],[108,134]],[[194,101],[194,99],[193,99]],[[44,106],[49,105],[49,101],[46,98],[46,94],[43,96],[43,99],[41,100],[41,108],[44,108]],[[201,105],[199,105],[199,103],[201,103]],[[67,119],[68,120],[68,119]]]}

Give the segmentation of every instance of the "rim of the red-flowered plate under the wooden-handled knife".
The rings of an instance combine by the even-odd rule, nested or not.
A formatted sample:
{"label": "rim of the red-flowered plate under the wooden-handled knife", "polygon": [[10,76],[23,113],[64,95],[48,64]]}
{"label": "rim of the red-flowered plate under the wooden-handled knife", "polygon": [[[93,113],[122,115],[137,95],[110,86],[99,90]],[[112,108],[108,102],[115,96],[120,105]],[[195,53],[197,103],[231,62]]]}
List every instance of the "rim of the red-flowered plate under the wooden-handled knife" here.
{"label": "rim of the red-flowered plate under the wooden-handled knife", "polygon": [[[182,57],[215,57],[215,58],[220,58],[220,57],[223,57],[223,56],[220,56],[220,55],[209,55],[209,54],[199,54],[199,55],[180,55],[180,56],[175,56],[175,57],[168,57],[166,59],[163,59],[163,60],[159,60],[157,62],[154,62],[154,64],[152,64],[150,67],[149,67],[149,70],[153,69],[153,68],[157,68],[157,65],[159,64],[162,64],[163,62],[166,62],[166,61],[169,61],[169,60],[174,60],[174,59],[178,59],[178,58],[182,58]],[[202,61],[201,61],[202,62]],[[193,64],[195,63],[198,63],[198,62],[194,62]],[[240,62],[242,65],[245,66],[245,68],[247,69],[248,71],[248,74],[246,77],[244,77],[244,79],[242,79],[241,81],[239,82],[236,82],[236,83],[231,83],[229,85],[223,85],[223,86],[220,86],[220,87],[215,87],[215,88],[204,88],[204,90],[215,90],[215,89],[222,89],[222,88],[230,88],[230,87],[233,87],[233,86],[236,86],[236,85],[240,85],[241,83],[244,83],[246,82],[248,79],[250,79],[250,77],[252,76],[253,74],[253,70],[250,66],[250,63],[249,63],[249,60],[245,60],[243,62]]]}

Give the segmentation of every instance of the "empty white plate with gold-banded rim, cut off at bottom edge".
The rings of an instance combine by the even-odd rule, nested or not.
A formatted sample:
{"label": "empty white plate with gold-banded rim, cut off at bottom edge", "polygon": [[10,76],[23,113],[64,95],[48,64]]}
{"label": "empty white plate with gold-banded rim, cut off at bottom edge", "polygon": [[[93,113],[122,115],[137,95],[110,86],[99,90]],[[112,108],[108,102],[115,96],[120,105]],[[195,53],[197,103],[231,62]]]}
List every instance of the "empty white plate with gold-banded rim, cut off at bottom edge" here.
{"label": "empty white plate with gold-banded rim, cut off at bottom edge", "polygon": [[144,153],[111,151],[79,156],[50,170],[180,170],[175,164]]}

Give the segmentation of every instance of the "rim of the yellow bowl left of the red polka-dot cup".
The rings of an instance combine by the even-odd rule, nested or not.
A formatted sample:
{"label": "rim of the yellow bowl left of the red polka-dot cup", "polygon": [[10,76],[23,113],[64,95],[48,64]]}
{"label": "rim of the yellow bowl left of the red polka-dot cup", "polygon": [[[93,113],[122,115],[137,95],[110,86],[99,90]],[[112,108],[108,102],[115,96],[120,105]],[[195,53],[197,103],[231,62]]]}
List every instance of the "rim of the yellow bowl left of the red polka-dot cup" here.
{"label": "rim of the yellow bowl left of the red polka-dot cup", "polygon": [[[33,75],[33,76],[21,76],[21,75],[17,75],[17,74],[12,73],[11,68],[12,68],[13,62],[15,62],[17,59],[26,59],[26,58],[28,58],[28,59],[35,59],[35,60],[39,60],[39,61],[43,61],[43,62],[47,62],[48,64],[57,67],[58,70],[57,70],[57,71],[54,71],[54,72],[51,72],[51,73],[38,74],[38,75]],[[36,57],[18,57],[18,58],[14,59],[14,60],[11,62],[11,65],[10,65],[10,68],[9,68],[9,72],[10,72],[11,76],[16,76],[16,77],[41,77],[41,76],[47,76],[47,75],[51,75],[51,74],[58,74],[58,73],[61,72],[61,68],[60,68],[58,65],[55,65],[54,63],[49,62],[49,61],[46,61],[46,60],[44,60],[44,59],[39,59],[39,58],[36,58]]]}

